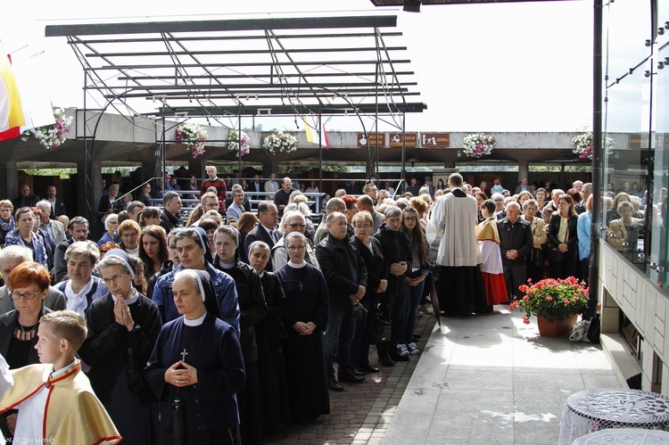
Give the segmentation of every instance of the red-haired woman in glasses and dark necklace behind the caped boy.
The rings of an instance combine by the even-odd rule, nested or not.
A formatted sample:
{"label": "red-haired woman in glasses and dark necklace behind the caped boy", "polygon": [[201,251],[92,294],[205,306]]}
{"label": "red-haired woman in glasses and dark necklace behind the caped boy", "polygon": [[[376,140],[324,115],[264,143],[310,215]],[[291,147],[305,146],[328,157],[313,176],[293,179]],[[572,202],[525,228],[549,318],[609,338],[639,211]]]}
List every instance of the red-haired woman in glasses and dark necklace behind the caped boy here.
{"label": "red-haired woman in glasses and dark necklace behind the caped boy", "polygon": [[[10,369],[39,363],[35,350],[37,328],[39,318],[51,312],[44,306],[49,284],[49,271],[34,261],[13,268],[7,278],[15,309],[0,317],[0,354],[7,359]],[[12,437],[15,424],[15,410],[0,416],[0,428],[5,438]]]}

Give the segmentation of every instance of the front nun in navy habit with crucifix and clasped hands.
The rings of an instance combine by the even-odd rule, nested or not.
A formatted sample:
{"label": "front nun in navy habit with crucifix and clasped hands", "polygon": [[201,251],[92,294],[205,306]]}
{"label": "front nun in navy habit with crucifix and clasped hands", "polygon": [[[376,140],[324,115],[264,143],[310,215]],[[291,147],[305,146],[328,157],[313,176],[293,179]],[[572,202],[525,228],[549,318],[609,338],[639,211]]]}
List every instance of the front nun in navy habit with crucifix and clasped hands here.
{"label": "front nun in navy habit with crucifix and clasped hands", "polygon": [[172,292],[179,317],[162,326],[145,371],[160,400],[159,443],[236,444],[244,358],[235,329],[219,319],[206,271],[179,270]]}

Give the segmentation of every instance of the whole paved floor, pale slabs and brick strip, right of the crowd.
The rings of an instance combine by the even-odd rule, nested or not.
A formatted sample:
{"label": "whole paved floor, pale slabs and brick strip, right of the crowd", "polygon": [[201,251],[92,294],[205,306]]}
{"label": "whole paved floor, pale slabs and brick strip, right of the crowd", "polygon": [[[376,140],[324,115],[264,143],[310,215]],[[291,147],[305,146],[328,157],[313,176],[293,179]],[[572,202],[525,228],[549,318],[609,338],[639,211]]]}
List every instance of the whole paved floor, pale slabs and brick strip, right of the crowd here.
{"label": "whole paved floor, pale slabs and brick strip, right of the crowd", "polygon": [[570,394],[620,386],[599,346],[540,337],[506,306],[441,321],[418,319],[417,358],[345,383],[330,392],[329,416],[267,443],[555,444]]}

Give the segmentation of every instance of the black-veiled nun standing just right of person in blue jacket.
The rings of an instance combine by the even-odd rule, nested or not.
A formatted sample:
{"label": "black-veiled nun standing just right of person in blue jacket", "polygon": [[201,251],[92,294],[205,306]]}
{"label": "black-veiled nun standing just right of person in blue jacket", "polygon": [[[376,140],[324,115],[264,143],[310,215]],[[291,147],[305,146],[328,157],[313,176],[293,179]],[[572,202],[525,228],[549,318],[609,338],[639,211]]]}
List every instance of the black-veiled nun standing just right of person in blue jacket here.
{"label": "black-veiled nun standing just right of person in blue jacket", "polygon": [[239,260],[239,236],[237,230],[229,226],[216,229],[214,235],[217,260],[214,267],[235,280],[239,301],[241,330],[240,343],[246,369],[246,384],[237,394],[241,421],[242,443],[260,443],[262,431],[257,425],[263,424],[260,416],[260,391],[258,382],[258,343],[255,326],[269,310],[262,292],[260,277],[246,263]]}

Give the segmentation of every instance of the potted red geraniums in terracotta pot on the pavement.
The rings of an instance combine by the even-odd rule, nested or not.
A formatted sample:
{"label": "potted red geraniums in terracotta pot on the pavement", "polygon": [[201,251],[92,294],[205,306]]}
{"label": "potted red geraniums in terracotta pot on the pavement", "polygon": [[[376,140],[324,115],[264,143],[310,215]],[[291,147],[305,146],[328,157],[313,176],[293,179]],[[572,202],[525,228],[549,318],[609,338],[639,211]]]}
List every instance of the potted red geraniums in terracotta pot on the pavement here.
{"label": "potted red geraniums in terracotta pot on the pavement", "polygon": [[536,316],[541,335],[557,336],[571,330],[588,306],[588,288],[574,276],[527,283],[520,286],[524,297],[516,298],[509,309],[520,308],[526,325],[530,324],[530,317]]}

